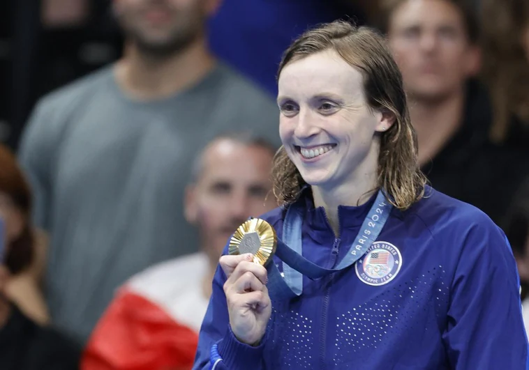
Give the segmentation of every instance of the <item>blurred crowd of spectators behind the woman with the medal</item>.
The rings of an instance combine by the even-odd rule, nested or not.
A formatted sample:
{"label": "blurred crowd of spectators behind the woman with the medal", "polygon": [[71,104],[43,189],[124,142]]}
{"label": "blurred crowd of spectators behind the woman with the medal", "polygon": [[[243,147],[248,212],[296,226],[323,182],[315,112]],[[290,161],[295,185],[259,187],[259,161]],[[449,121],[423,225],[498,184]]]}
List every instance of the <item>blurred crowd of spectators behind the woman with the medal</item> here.
{"label": "blurred crowd of spectators behind the woman with the medal", "polygon": [[387,35],[424,173],[505,231],[529,316],[528,0],[5,0],[0,17],[0,369],[191,369],[218,257],[277,205],[281,54],[337,19]]}

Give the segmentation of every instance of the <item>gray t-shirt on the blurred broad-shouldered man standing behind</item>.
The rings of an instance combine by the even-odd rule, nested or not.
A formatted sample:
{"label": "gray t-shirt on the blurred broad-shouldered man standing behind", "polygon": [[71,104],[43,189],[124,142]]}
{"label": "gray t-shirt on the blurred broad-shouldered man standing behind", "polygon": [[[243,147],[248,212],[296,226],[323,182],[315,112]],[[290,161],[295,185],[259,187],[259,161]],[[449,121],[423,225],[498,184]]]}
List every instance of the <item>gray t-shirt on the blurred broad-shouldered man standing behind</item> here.
{"label": "gray t-shirt on the blurred broad-shouldered man standing behind", "polygon": [[183,201],[202,146],[233,130],[280,144],[272,98],[225,65],[154,102],[127,98],[113,71],[40,100],[20,148],[36,224],[51,235],[52,320],[80,341],[128,277],[198,249]]}

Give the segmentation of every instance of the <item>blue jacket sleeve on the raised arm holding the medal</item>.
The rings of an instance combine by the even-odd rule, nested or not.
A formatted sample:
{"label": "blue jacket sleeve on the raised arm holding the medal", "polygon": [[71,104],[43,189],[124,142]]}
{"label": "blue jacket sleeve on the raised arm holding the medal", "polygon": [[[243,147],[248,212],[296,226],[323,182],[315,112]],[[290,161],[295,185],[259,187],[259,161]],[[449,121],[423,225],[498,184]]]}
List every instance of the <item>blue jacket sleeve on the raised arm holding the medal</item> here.
{"label": "blue jacket sleeve on the raised arm holding the medal", "polygon": [[223,288],[225,281],[226,275],[219,265],[213,279],[209,306],[200,328],[193,370],[262,370],[262,354],[267,336],[257,347],[241,343],[234,337]]}

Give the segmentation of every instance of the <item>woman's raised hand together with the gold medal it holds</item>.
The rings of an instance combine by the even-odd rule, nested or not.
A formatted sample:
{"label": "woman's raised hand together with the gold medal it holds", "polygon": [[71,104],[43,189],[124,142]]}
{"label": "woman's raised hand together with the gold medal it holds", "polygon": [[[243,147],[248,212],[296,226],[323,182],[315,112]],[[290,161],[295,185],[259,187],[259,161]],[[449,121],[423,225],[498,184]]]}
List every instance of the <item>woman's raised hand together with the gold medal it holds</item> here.
{"label": "woman's raised hand together with the gold medal it holds", "polygon": [[220,263],[226,277],[224,293],[232,332],[239,341],[257,345],[271,315],[267,270],[276,251],[274,228],[263,219],[250,219],[235,231],[229,254]]}

